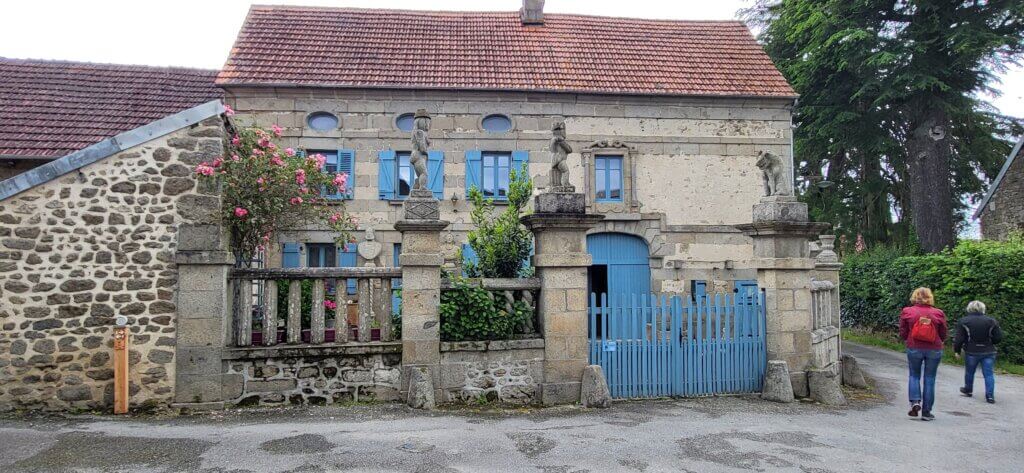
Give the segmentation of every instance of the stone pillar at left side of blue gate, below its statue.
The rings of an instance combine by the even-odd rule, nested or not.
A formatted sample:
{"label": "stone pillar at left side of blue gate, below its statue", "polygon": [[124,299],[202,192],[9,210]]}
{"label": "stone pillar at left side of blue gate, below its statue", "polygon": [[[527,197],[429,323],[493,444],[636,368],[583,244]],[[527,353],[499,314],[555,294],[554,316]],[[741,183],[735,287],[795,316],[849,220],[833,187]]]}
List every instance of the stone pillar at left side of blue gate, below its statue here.
{"label": "stone pillar at left side of blue gate, below its statue", "polygon": [[[557,190],[557,188],[556,188]],[[584,369],[588,364],[587,230],[604,218],[586,213],[582,193],[546,192],[537,196],[535,212],[522,218],[536,242],[534,266],[541,280],[538,304],[544,335],[545,405],[580,401]]]}

